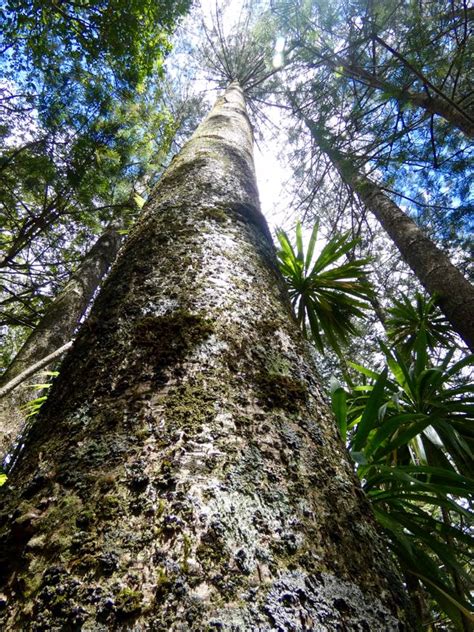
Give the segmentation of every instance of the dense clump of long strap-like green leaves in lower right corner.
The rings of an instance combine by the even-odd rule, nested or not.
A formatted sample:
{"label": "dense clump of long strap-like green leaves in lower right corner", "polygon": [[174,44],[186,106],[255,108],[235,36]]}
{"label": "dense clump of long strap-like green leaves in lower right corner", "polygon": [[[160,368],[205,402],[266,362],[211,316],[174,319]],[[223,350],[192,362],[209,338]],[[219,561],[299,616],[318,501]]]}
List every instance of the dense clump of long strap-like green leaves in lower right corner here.
{"label": "dense clump of long strap-like green leaves in lower right corner", "polygon": [[464,374],[474,365],[474,356],[452,362],[451,351],[433,366],[427,332],[436,331],[436,326],[428,319],[418,332],[412,330],[408,303],[403,303],[406,322],[401,311],[396,314],[400,325],[406,325],[402,331],[408,332],[400,341],[408,349],[408,336],[411,354],[407,357],[381,343],[383,371],[350,363],[363,383],[349,393],[335,383],[333,410],[341,435],[349,437],[363,489],[402,568],[422,582],[462,630],[462,617],[471,616],[473,605],[467,597],[467,567],[474,550],[469,528],[474,502],[474,386],[464,385]]}

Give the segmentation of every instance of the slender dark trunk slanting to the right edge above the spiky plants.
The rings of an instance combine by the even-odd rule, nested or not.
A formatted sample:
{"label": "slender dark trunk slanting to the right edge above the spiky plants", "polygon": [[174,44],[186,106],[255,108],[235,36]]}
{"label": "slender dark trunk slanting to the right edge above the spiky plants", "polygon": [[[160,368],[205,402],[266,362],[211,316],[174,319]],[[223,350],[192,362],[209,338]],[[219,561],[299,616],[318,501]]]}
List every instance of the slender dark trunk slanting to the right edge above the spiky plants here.
{"label": "slender dark trunk slanting to the right edge above the spiky plants", "polygon": [[341,178],[357,193],[391,237],[423,287],[429,294],[439,297],[440,309],[474,353],[474,287],[375,182],[335,149],[335,143],[324,137],[311,121],[305,119],[305,123]]}

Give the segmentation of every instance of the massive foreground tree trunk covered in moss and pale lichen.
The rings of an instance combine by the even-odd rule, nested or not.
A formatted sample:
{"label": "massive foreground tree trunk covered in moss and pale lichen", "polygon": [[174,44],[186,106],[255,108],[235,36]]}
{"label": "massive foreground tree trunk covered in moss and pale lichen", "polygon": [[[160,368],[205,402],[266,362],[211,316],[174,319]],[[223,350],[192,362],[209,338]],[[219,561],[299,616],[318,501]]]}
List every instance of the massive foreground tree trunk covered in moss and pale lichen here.
{"label": "massive foreground tree trunk covered in moss and pale lichen", "polygon": [[411,629],[305,344],[234,83],[152,194],[3,491],[2,629]]}

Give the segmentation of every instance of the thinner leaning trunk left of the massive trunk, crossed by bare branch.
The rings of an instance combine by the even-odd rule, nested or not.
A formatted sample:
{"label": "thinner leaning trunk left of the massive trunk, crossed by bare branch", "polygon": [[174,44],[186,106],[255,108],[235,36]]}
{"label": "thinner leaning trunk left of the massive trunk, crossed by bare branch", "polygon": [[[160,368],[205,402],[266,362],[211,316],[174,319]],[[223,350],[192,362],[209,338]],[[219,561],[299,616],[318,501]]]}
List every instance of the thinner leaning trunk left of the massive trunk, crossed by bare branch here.
{"label": "thinner leaning trunk left of the massive trunk, crossed by bare branch", "polygon": [[[5,386],[70,340],[101,279],[115,259],[119,245],[120,235],[114,228],[107,229],[99,237],[2,375],[0,386]],[[24,414],[20,408],[34,398],[34,391],[27,386],[35,381],[34,376],[28,378],[0,400],[0,461],[23,427]]]}

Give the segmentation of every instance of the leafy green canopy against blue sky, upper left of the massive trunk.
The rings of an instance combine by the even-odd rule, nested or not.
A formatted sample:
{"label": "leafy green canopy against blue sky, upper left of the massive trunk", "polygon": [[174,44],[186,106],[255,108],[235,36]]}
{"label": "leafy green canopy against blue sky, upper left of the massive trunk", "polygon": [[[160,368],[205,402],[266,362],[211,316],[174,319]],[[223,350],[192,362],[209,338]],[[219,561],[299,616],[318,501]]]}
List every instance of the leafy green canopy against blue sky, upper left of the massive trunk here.
{"label": "leafy green canopy against blue sky, upper left of the massive trunk", "polygon": [[177,121],[163,63],[187,0],[0,6],[0,328],[7,366],[104,226],[128,228]]}

